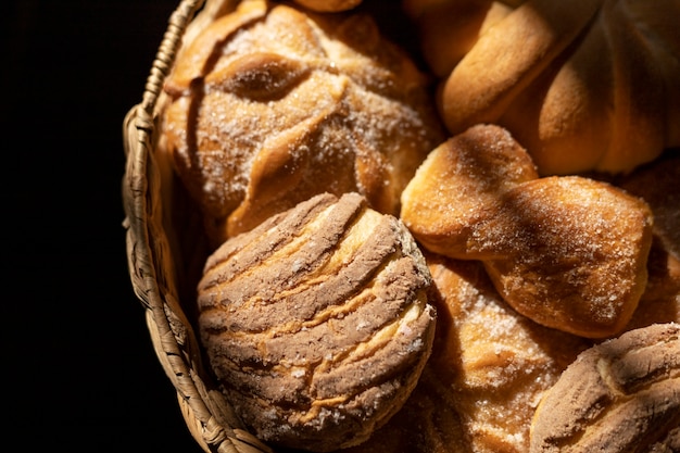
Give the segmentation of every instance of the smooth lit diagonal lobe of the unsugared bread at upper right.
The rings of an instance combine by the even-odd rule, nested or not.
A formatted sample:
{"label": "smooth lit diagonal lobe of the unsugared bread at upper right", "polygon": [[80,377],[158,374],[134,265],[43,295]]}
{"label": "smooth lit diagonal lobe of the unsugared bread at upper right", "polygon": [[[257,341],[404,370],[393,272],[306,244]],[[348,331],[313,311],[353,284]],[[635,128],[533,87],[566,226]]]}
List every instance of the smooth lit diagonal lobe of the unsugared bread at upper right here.
{"label": "smooth lit diagonal lobe of the unsugared bread at upper right", "polygon": [[444,123],[459,134],[496,122],[513,98],[585,27],[597,2],[538,0],[524,3],[481,35],[446,78]]}

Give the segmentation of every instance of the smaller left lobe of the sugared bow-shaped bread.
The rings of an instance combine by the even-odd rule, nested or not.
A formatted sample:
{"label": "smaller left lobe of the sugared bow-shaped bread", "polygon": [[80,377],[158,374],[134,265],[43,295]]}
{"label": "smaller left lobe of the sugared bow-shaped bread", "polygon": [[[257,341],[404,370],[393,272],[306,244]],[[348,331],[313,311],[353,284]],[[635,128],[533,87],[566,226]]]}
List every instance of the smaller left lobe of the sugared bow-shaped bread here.
{"label": "smaller left lobe of the sugared bow-shaped bread", "polygon": [[506,130],[476,126],[430,152],[402,192],[401,218],[428,250],[465,259],[474,228],[494,215],[499,192],[536,178],[531,159]]}

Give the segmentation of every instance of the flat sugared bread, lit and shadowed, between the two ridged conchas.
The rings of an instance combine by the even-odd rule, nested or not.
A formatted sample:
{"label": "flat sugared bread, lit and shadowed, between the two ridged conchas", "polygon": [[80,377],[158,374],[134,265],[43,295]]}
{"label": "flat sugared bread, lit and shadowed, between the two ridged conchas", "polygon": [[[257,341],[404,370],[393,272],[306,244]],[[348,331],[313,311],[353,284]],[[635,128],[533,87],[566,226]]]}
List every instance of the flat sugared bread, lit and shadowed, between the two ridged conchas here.
{"label": "flat sugared bread, lit and shadowed, between the two ridged conchas", "polygon": [[479,262],[426,254],[437,331],[400,413],[351,453],[526,453],[543,393],[590,343],[509,307]]}

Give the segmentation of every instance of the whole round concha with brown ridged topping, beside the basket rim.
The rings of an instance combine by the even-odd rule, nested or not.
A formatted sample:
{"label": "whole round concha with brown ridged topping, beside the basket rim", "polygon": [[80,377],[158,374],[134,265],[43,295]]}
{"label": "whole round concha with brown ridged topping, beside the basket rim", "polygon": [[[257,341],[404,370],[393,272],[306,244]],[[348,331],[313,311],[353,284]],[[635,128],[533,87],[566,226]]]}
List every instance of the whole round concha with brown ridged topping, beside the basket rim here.
{"label": "whole round concha with brown ridged topping, beside the basket rim", "polygon": [[255,436],[331,451],[365,441],[416,386],[433,341],[430,281],[396,217],[323,193],[209,257],[199,330]]}

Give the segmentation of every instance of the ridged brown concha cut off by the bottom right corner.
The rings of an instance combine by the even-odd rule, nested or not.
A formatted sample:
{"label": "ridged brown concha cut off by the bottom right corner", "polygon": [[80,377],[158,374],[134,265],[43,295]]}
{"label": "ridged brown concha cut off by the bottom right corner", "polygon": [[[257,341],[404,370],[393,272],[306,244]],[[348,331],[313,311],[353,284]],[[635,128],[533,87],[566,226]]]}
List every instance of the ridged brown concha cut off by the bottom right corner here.
{"label": "ridged brown concha cut off by the bottom right corner", "polygon": [[541,401],[531,453],[680,451],[680,325],[584,351]]}

